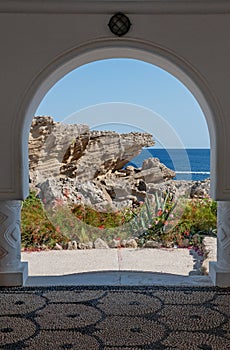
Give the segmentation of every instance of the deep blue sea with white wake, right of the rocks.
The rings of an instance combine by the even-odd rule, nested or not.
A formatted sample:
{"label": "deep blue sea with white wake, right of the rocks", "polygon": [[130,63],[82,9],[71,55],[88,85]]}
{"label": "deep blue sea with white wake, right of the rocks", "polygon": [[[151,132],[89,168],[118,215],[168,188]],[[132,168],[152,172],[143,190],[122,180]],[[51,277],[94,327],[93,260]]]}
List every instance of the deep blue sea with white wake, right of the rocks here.
{"label": "deep blue sea with white wake, right of the rocks", "polygon": [[129,165],[142,166],[145,159],[159,158],[160,162],[176,172],[175,180],[205,180],[210,177],[210,149],[144,148]]}

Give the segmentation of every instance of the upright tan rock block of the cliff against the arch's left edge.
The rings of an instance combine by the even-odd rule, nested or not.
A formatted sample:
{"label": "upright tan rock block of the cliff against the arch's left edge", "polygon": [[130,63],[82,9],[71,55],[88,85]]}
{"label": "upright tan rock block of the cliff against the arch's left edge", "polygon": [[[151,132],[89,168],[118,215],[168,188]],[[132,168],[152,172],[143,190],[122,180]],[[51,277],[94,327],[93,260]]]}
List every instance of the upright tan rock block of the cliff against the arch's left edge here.
{"label": "upright tan rock block of the cliff against the arch's left edge", "polygon": [[89,127],[81,124],[55,123],[51,117],[33,119],[29,136],[30,180],[36,185],[60,176],[66,153],[75,145],[75,157],[81,157],[89,139]]}

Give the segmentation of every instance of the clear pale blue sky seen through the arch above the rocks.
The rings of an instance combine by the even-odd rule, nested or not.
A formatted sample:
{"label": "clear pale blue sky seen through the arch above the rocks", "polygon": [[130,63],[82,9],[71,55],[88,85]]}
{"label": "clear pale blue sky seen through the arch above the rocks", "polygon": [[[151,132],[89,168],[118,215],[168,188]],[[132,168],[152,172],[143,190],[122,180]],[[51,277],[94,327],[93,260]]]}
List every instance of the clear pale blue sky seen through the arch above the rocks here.
{"label": "clear pale blue sky seen through the arch above the rocks", "polygon": [[148,131],[165,148],[209,148],[205,117],[193,95],[171,74],[137,60],[79,67],[53,86],[36,115],[96,129]]}

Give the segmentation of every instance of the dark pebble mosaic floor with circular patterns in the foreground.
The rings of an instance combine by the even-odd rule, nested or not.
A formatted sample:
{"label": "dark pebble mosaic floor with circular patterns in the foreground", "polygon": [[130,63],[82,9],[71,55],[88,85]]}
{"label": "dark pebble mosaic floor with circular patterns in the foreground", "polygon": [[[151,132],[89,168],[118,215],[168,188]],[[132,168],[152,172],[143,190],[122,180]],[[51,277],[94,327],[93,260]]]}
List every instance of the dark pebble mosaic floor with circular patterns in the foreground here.
{"label": "dark pebble mosaic floor with circular patterns in the foreground", "polygon": [[0,349],[230,349],[230,289],[0,289]]}

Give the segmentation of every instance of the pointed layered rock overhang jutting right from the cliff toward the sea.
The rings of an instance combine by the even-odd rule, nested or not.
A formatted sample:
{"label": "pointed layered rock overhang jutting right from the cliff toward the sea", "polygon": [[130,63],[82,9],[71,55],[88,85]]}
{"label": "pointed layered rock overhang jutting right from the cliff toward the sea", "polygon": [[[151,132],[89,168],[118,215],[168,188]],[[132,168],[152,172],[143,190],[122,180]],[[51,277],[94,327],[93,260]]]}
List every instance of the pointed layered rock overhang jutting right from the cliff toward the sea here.
{"label": "pointed layered rock overhang jutting right from the cliff toward the sea", "polygon": [[[83,136],[83,140],[82,140]],[[142,148],[153,146],[152,135],[132,132],[91,131],[76,137],[63,158],[61,174],[78,182],[95,179],[108,171],[122,169]]]}

